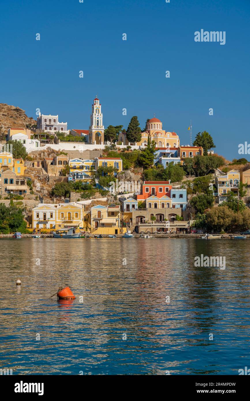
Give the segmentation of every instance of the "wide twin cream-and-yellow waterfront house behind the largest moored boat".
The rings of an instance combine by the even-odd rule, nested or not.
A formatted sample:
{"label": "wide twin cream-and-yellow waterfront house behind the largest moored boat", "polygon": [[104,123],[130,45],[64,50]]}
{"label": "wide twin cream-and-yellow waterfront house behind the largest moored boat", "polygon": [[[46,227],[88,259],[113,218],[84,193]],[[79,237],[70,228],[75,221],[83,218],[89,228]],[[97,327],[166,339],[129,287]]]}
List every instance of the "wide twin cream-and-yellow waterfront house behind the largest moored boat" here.
{"label": "wide twin cream-and-yellow waterfront house behind the largest moored boat", "polygon": [[32,228],[59,229],[77,227],[84,229],[85,205],[80,203],[39,203],[32,209]]}

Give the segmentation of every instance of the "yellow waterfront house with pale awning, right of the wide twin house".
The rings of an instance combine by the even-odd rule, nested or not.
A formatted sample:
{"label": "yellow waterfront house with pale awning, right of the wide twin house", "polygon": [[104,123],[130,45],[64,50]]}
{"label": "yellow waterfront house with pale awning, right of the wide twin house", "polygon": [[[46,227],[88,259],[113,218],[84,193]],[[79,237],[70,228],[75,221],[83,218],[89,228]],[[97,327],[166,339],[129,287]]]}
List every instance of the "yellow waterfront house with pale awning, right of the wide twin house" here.
{"label": "yellow waterfront house with pale awning, right of the wide twin house", "polygon": [[120,227],[120,205],[97,205],[91,207],[91,233],[121,234],[126,228]]}

